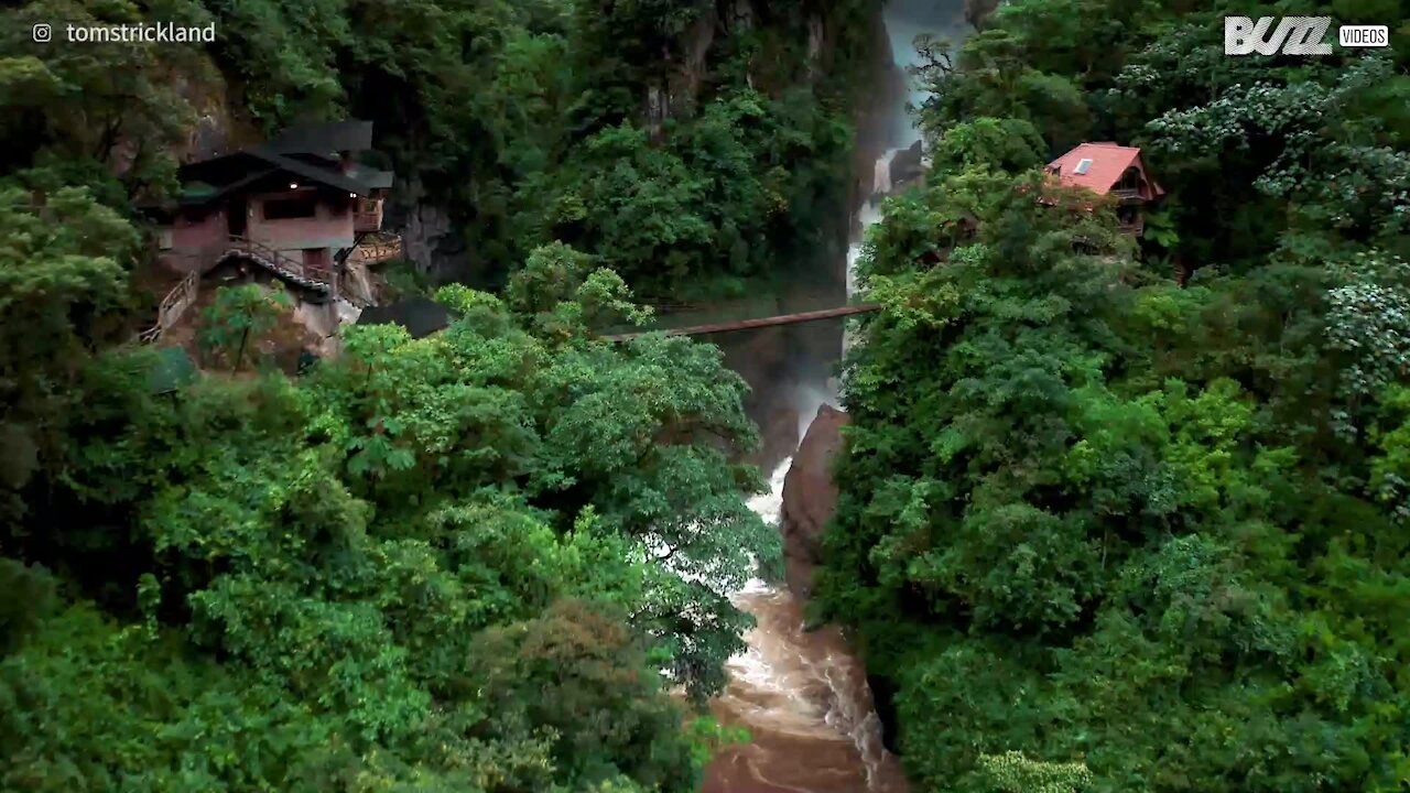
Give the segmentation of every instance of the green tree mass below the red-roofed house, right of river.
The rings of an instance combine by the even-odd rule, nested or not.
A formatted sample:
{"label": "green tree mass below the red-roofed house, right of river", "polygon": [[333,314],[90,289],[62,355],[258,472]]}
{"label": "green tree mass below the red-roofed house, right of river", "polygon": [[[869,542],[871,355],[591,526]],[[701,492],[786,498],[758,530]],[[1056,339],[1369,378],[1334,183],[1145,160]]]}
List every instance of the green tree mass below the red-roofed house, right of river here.
{"label": "green tree mass below the red-roofed house, right of river", "polygon": [[860,264],[818,587],[912,780],[1393,789],[1399,261],[1182,289],[1041,179],[932,174]]}

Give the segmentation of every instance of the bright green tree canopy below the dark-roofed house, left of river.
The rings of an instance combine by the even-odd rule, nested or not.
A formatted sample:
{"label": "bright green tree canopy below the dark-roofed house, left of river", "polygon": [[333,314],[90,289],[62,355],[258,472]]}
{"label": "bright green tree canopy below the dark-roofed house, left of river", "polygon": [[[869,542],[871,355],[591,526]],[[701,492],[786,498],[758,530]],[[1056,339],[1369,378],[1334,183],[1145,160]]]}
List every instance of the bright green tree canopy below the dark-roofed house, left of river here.
{"label": "bright green tree canopy below the dark-roofed house, left of river", "polygon": [[692,790],[666,690],[719,687],[723,593],[777,553],[729,457],[754,429],[718,351],[595,340],[612,277],[560,274],[553,323],[448,288],[444,333],[352,327],[299,381],[86,367],[75,519],[7,538],[7,593],[76,600],[7,605],[4,785]]}

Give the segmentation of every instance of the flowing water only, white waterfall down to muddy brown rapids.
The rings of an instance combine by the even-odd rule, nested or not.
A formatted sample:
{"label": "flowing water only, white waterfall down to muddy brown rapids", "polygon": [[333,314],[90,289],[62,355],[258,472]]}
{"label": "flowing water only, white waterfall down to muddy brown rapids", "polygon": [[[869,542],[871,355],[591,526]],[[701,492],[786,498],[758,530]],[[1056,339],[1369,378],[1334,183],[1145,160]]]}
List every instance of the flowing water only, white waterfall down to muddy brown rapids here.
{"label": "flowing water only, white waterfall down to muddy brown rapids", "polygon": [[[891,0],[884,13],[887,37],[897,69],[915,62],[911,45],[919,32],[935,32],[957,42],[969,31],[963,0]],[[893,92],[884,117],[873,119],[880,130],[873,150],[883,154],[870,174],[870,190],[852,219],[852,238],[845,267],[846,289],[854,289],[853,268],[862,253],[866,229],[880,219],[880,198],[893,190],[891,161],[909,148],[919,133],[907,103],[924,93],[912,85]],[[829,274],[836,275],[836,274]],[[829,364],[835,368],[846,339],[838,337]],[[797,437],[822,404],[838,402],[835,380],[792,385],[788,401],[797,406]],[[784,459],[771,473],[770,490],[750,507],[778,525],[784,478],[791,464]],[[752,741],[732,748],[706,769],[705,793],[901,793],[907,789],[900,763],[883,746],[881,724],[873,707],[866,670],[836,628],[804,631],[802,604],[783,586],[750,581],[732,595],[750,612],[757,626],[746,636],[747,649],[729,660],[729,684],[712,701],[715,717],[746,728]]]}

